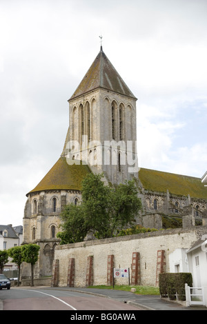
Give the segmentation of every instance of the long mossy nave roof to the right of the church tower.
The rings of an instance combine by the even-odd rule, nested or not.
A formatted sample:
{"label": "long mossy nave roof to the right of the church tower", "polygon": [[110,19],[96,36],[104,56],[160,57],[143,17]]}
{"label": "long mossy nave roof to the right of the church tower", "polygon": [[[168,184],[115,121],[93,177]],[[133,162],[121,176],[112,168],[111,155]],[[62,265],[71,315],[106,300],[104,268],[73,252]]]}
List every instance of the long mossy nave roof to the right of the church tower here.
{"label": "long mossy nave roof to the right of the church tower", "polygon": [[144,189],[154,192],[168,192],[179,196],[188,196],[196,199],[207,199],[207,188],[201,179],[194,176],[184,176],[157,170],[141,168],[139,180]]}

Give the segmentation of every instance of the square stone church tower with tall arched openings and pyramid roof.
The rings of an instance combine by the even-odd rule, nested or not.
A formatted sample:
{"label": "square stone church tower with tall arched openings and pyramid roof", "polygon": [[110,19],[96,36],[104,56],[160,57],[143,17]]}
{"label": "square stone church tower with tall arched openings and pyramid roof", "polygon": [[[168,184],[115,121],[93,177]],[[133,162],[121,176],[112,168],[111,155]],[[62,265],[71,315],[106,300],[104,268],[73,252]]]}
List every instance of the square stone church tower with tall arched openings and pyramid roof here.
{"label": "square stone church tower with tall arched openings and pyramid roof", "polygon": [[70,125],[62,156],[86,163],[117,184],[138,177],[136,101],[101,46],[68,100]]}

